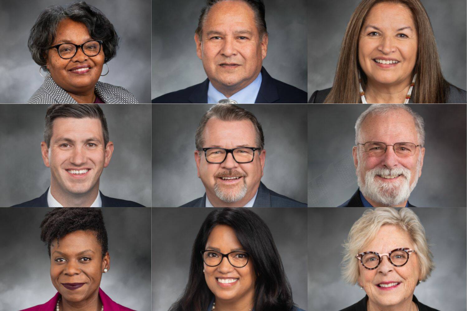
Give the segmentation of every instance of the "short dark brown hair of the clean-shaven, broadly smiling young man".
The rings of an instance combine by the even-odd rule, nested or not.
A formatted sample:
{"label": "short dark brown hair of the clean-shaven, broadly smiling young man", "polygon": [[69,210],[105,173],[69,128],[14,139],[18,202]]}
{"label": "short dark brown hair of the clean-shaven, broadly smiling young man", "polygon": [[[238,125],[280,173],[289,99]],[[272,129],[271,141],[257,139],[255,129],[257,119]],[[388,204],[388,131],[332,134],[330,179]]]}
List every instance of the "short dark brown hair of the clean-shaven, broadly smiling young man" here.
{"label": "short dark brown hair of the clean-shaven, broadly smiling young man", "polygon": [[107,146],[109,142],[109,130],[104,111],[102,111],[98,104],[53,104],[47,108],[47,112],[45,113],[44,141],[47,144],[47,148],[50,147],[52,127],[57,117],[74,117],[78,119],[89,117],[99,119],[102,124],[104,148]]}

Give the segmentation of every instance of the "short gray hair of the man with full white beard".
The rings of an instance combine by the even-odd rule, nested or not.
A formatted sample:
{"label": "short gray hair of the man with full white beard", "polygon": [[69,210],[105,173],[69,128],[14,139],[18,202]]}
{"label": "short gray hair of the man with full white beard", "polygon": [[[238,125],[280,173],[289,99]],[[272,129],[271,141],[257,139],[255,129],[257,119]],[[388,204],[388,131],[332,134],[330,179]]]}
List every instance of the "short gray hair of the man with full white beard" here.
{"label": "short gray hair of the man with full white beard", "polygon": [[395,111],[397,109],[403,109],[407,111],[410,114],[410,116],[413,117],[415,129],[417,130],[418,143],[421,147],[423,147],[425,145],[425,123],[423,121],[423,117],[421,117],[417,112],[413,111],[409,106],[405,104],[372,104],[371,106],[369,106],[367,110],[362,112],[360,117],[358,117],[357,122],[355,123],[355,144],[361,143],[359,142],[361,124],[368,115],[384,115],[389,111]]}

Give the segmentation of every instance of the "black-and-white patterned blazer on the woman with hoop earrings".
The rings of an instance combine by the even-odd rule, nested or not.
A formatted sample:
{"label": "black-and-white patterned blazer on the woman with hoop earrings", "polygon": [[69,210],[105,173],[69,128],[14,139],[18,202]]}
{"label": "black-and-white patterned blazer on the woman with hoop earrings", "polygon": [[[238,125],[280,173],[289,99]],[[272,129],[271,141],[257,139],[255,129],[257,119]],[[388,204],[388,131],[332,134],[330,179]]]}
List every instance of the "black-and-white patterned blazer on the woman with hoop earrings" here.
{"label": "black-and-white patterned blazer on the woman with hoop earrings", "polygon": [[[106,104],[138,104],[131,92],[121,86],[97,82],[96,95]],[[26,104],[78,104],[64,89],[59,87],[50,76],[44,79],[41,87],[34,92]]]}

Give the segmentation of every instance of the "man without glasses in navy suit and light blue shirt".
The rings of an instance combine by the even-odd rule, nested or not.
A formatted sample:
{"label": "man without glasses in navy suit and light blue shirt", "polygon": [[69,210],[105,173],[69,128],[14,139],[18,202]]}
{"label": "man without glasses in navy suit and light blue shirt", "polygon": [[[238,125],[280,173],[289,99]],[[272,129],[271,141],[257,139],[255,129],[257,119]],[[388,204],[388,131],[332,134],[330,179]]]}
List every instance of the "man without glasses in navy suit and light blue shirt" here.
{"label": "man without glasses in navy suit and light blue shirt", "polygon": [[307,103],[303,90],[278,81],[262,61],[268,52],[262,0],[207,0],[195,32],[207,79],[152,100],[172,103]]}

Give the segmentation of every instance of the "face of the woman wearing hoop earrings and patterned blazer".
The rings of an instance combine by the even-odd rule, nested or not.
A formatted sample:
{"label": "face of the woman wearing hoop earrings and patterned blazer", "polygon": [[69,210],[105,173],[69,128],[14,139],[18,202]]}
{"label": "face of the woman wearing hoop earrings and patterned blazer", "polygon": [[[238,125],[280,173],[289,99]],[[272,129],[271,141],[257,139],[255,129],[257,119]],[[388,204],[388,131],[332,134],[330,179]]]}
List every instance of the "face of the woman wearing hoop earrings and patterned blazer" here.
{"label": "face of the woman wearing hoop earrings and patterned blazer", "polygon": [[[85,24],[67,18],[58,24],[57,35],[51,46],[61,43],[77,45],[94,40]],[[58,86],[71,94],[85,94],[94,90],[104,65],[104,49],[96,56],[87,56],[78,48],[75,56],[63,59],[57,48],[49,49],[47,69]],[[79,70],[78,70],[79,69]]]}

